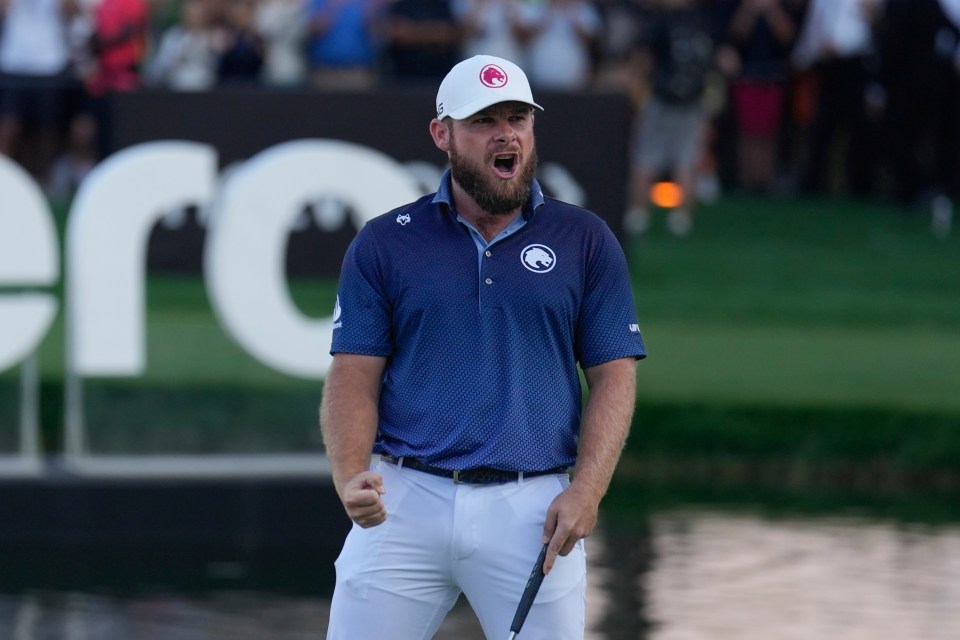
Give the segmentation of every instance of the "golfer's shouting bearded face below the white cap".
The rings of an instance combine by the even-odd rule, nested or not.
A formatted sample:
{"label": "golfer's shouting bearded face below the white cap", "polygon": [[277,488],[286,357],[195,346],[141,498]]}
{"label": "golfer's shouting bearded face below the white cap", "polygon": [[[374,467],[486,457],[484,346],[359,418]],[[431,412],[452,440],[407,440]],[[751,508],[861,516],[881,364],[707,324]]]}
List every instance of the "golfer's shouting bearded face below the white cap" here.
{"label": "golfer's shouting bearded face below the white cap", "polygon": [[529,105],[495,104],[447,126],[453,179],[484,211],[510,215],[526,204],[537,170]]}

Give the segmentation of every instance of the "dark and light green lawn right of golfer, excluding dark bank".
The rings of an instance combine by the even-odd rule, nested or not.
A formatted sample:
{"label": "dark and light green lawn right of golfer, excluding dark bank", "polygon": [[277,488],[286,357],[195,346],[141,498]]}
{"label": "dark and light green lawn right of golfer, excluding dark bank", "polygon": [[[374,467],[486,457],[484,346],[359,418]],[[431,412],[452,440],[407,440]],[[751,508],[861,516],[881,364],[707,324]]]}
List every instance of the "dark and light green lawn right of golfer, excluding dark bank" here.
{"label": "dark and light green lawn right of golfer, excluding dark bank", "polygon": [[641,401],[960,417],[960,242],[864,204],[727,199],[628,246]]}

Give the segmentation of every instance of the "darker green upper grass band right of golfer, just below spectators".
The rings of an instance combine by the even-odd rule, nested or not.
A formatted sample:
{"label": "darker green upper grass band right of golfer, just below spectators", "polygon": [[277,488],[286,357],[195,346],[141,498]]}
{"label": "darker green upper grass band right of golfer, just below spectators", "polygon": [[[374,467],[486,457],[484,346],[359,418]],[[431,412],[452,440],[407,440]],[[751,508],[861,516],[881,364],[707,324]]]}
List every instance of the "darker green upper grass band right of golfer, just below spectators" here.
{"label": "darker green upper grass band right of golfer, just below spectators", "polygon": [[[881,206],[728,198],[684,240],[628,246],[641,316],[747,326],[960,328],[960,233]],[[951,295],[953,294],[953,295]]]}

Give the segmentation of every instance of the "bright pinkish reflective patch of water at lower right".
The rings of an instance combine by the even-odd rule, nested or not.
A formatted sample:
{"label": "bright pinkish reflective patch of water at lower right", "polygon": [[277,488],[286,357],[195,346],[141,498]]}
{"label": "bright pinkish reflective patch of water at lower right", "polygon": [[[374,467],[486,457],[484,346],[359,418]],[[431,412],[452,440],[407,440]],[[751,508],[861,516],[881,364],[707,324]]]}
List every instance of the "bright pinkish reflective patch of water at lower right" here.
{"label": "bright pinkish reflective patch of water at lower right", "polygon": [[649,638],[960,637],[960,529],[676,513],[651,523]]}

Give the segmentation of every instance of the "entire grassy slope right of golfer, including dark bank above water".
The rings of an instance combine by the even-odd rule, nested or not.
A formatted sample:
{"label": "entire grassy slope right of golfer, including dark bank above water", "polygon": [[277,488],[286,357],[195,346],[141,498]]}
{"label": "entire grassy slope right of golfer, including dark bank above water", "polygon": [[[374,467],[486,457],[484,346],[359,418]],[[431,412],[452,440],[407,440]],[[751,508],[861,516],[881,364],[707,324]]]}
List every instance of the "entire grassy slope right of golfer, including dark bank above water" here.
{"label": "entire grassy slope right of golfer, including dark bank above water", "polygon": [[649,357],[622,476],[960,489],[960,234],[880,205],[727,198],[690,238],[661,225],[627,250]]}

